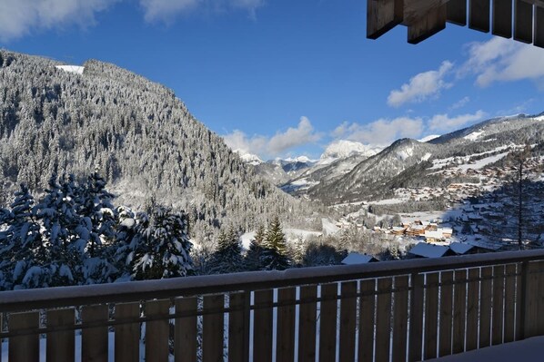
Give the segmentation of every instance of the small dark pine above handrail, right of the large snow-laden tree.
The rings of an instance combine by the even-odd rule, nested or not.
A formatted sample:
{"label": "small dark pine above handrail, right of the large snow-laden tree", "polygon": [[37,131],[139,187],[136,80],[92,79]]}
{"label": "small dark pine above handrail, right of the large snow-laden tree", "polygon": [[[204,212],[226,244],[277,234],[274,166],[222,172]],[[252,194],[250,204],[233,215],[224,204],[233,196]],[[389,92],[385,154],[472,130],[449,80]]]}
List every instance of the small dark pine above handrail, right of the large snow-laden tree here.
{"label": "small dark pine above handrail, right of the large snow-laden tree", "polygon": [[243,269],[242,247],[237,230],[229,227],[221,231],[217,239],[217,250],[212,256],[212,272],[217,274],[236,273]]}

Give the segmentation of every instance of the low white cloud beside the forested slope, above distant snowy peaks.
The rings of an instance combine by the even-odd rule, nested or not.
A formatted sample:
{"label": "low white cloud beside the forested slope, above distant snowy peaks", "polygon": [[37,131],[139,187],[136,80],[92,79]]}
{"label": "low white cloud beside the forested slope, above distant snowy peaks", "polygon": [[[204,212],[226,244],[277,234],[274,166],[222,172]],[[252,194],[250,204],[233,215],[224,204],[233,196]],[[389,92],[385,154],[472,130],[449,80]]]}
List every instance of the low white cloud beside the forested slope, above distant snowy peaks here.
{"label": "low white cloud beside the forested slope, above distant snowy peaks", "polygon": [[297,127],[289,127],[287,131],[277,132],[272,137],[262,135],[249,137],[245,132],[236,130],[224,135],[223,138],[227,146],[233,150],[274,158],[296,147],[317,142],[321,136],[315,132],[307,117],[301,117]]}

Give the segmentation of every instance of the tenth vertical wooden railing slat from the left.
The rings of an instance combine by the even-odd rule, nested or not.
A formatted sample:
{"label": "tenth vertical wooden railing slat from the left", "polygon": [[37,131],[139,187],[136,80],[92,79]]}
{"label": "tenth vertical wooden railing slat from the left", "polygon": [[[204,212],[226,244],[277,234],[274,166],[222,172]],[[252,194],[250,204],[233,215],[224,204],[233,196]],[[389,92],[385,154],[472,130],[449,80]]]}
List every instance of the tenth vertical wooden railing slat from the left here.
{"label": "tenth vertical wooden railing slat from the left", "polygon": [[[277,335],[276,360],[293,361],[295,359],[295,300],[297,289],[284,288],[277,292]],[[281,304],[286,304],[281,306]]]}

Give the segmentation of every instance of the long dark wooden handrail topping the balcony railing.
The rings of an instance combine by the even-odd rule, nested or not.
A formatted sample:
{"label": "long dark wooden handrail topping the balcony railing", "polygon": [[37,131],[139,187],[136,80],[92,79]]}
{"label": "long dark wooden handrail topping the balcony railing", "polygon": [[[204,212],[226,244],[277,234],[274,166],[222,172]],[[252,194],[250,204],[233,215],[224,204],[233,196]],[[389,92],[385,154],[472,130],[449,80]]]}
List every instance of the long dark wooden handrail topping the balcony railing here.
{"label": "long dark wooden handrail topping the balcony railing", "polygon": [[506,251],[438,259],[408,259],[369,264],[283,271],[256,271],[176,279],[0,292],[0,312],[60,308],[153,298],[174,298],[237,290],[274,289],[341,280],[408,275],[544,259],[544,249]]}

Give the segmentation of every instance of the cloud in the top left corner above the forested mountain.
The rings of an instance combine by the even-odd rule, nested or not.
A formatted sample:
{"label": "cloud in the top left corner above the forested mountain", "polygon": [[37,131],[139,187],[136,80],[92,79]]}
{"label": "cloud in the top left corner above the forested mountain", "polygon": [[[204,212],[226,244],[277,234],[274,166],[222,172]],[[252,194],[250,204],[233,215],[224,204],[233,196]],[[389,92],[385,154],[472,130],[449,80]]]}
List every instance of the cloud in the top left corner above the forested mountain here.
{"label": "cloud in the top left corner above the forested mountain", "polygon": [[118,0],[0,0],[0,40],[36,30],[95,24],[95,14]]}

